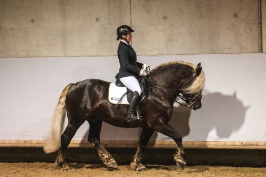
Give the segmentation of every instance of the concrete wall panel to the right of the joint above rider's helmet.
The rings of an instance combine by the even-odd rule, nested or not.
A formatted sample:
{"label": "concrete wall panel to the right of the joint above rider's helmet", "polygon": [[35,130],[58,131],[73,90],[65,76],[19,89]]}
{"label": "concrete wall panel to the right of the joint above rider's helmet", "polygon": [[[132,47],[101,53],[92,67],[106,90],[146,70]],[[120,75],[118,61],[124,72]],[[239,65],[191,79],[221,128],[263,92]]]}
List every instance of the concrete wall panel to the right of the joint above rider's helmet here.
{"label": "concrete wall panel to the right of the joint above rider's helmet", "polygon": [[258,52],[254,0],[134,0],[132,26],[143,55]]}

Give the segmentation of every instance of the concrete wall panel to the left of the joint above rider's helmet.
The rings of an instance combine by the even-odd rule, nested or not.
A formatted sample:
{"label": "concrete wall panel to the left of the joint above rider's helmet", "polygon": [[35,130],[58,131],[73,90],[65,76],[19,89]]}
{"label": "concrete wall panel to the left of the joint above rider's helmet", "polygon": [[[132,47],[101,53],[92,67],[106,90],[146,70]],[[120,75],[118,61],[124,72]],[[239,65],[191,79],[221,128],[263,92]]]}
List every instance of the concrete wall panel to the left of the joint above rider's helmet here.
{"label": "concrete wall panel to the left of the joint above rider's helmet", "polygon": [[[2,57],[107,56],[129,1],[0,1]],[[120,18],[123,16],[123,18]]]}

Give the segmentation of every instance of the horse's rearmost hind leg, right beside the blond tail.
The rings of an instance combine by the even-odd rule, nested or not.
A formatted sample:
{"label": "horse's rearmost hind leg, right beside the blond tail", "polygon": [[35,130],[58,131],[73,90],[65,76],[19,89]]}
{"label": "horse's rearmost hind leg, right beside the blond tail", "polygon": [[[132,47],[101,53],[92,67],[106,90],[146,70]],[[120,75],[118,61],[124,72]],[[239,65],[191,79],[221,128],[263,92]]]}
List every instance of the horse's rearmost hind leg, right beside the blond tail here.
{"label": "horse's rearmost hind leg, right beside the blond tail", "polygon": [[80,125],[82,125],[82,123],[84,123],[84,121],[75,122],[75,123],[68,122],[68,125],[61,136],[61,147],[58,151],[58,155],[56,158],[56,165],[61,167],[61,169],[63,170],[69,169],[65,161],[65,150],[69,145],[70,141],[72,140],[72,138],[74,137],[74,135],[76,134],[77,129],[80,127]]}

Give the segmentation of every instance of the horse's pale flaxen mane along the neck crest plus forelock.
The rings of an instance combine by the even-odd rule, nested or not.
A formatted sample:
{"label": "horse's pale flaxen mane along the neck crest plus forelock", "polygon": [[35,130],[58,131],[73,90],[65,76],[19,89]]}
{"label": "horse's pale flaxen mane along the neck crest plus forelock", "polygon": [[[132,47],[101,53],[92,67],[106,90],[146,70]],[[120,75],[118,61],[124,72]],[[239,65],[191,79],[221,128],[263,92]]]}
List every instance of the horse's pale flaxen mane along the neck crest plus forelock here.
{"label": "horse's pale flaxen mane along the neck crest plus forelock", "polygon": [[[184,61],[173,61],[173,62],[163,63],[163,64],[155,67],[152,70],[152,72],[157,70],[158,68],[160,68],[162,66],[167,66],[167,65],[171,65],[171,64],[187,65],[187,66],[192,67],[194,69],[194,71],[197,68],[197,66],[194,65],[193,63],[184,62]],[[196,93],[199,93],[200,91],[202,91],[204,89],[204,85],[205,85],[205,76],[204,76],[204,71],[202,70],[200,75],[196,78],[196,80],[190,86],[184,88],[183,91],[185,91],[187,94],[196,94]]]}

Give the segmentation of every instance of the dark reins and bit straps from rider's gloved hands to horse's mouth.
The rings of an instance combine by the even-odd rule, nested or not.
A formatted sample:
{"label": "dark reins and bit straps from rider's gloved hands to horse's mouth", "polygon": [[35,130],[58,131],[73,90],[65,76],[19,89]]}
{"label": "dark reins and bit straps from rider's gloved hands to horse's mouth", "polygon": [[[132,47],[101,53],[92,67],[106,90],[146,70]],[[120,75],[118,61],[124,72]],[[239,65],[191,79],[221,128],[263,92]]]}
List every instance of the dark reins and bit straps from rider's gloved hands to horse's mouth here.
{"label": "dark reins and bit straps from rider's gloved hands to horse's mouth", "polygon": [[[148,68],[149,68],[149,71],[148,71]],[[191,108],[191,109],[193,109],[193,106],[194,106],[194,104],[195,104],[195,99],[197,98],[197,97],[201,97],[202,96],[202,94],[196,94],[196,95],[194,95],[194,96],[191,96],[191,97],[185,97],[184,95],[180,95],[181,93],[174,93],[174,92],[171,92],[171,91],[168,91],[167,89],[165,89],[163,86],[161,86],[161,85],[159,85],[159,84],[157,84],[156,82],[154,82],[153,81],[153,78],[152,78],[152,75],[151,75],[151,68],[148,66],[148,68],[146,68],[146,73],[148,74],[150,74],[150,76],[151,76],[151,79],[149,79],[148,77],[146,77],[146,76],[141,76],[143,79],[145,79],[145,81],[147,81],[149,84],[148,84],[148,86],[149,87],[151,87],[151,86],[154,86],[156,89],[161,89],[161,90],[163,90],[163,91],[165,91],[165,92],[167,92],[167,93],[169,93],[169,94],[173,94],[173,95],[177,95],[177,97],[179,97],[180,99],[182,99],[184,102],[186,102],[186,104],[183,104],[183,103],[180,103],[180,102],[178,102],[178,101],[176,101],[176,99],[174,99],[174,98],[172,98],[172,97],[170,97],[174,102],[176,102],[176,103],[178,103],[178,104],[180,104],[180,105],[182,105],[182,106],[185,106],[185,107],[188,107],[188,108]],[[147,84],[147,83],[146,83]],[[147,86],[146,86],[147,87]],[[179,90],[179,91],[181,91],[181,90]]]}

